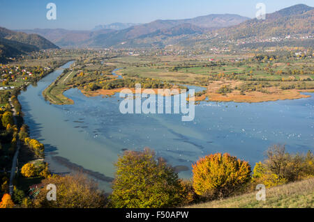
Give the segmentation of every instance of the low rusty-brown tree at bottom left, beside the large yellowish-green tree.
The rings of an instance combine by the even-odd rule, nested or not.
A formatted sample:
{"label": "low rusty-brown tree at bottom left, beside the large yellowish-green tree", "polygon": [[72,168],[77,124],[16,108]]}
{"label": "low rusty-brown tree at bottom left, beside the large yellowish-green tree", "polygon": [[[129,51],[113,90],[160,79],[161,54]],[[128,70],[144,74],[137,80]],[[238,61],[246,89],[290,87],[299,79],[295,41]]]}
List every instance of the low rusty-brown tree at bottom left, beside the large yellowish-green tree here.
{"label": "low rusty-brown tree at bottom left, beside the large yellowish-green tree", "polygon": [[[57,200],[47,200],[48,184],[55,184]],[[98,184],[82,174],[51,177],[42,180],[41,189],[33,201],[34,207],[44,208],[100,208],[105,207],[106,198]]]}

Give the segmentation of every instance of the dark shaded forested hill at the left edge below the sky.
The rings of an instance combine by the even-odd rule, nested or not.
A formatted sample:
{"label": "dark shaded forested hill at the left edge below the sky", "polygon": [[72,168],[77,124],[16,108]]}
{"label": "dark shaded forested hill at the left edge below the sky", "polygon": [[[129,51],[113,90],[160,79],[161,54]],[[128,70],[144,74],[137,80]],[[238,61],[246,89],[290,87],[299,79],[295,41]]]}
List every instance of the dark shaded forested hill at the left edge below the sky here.
{"label": "dark shaded forested hill at the left edge below the sky", "polygon": [[49,40],[36,34],[11,31],[0,27],[0,62],[7,58],[40,49],[58,49]]}

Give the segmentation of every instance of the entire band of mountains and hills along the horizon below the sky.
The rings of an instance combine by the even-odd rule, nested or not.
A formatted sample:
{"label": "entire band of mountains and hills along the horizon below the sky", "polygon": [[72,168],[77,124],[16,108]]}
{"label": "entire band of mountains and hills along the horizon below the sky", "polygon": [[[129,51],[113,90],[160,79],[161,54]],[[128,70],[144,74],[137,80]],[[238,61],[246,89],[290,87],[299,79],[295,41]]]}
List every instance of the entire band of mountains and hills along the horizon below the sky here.
{"label": "entire band of mountains and hills along the horizon below the sky", "polygon": [[[0,59],[38,49],[54,49],[58,46],[162,48],[176,45],[202,48],[234,40],[313,35],[313,23],[314,8],[298,4],[267,14],[266,19],[250,19],[230,14],[205,15],[192,19],[159,19],[147,24],[114,23],[96,26],[90,31],[66,29],[10,31],[0,27]],[[124,29],[125,27],[127,28]],[[310,41],[313,45],[313,39]]]}

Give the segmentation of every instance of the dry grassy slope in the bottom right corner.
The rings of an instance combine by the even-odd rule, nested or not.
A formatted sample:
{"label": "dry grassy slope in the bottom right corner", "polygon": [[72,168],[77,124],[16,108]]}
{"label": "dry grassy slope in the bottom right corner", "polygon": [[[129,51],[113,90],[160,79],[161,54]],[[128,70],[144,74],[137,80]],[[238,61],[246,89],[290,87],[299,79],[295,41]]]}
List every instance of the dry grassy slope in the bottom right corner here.
{"label": "dry grassy slope in the bottom right corner", "polygon": [[256,192],[241,196],[191,205],[197,208],[260,208],[260,207],[314,207],[314,178],[272,187],[266,191],[265,201],[257,201]]}

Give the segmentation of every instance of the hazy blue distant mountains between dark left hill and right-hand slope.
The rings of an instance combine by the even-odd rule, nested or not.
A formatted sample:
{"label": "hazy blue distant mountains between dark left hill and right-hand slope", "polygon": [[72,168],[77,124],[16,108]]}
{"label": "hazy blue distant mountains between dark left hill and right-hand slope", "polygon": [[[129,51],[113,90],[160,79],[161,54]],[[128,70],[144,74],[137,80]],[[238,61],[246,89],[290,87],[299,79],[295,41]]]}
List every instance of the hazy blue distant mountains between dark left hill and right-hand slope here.
{"label": "hazy blue distant mountains between dark left hill and right-hand slope", "polygon": [[[137,42],[137,38],[159,38],[163,33],[171,35],[172,32],[174,32],[175,36],[193,35],[195,33],[200,34],[213,29],[240,24],[248,19],[248,17],[230,14],[205,15],[192,19],[159,19],[147,24],[137,24],[133,26],[130,26],[131,24],[116,23],[107,26],[96,26],[96,28],[91,31],[70,31],[66,29],[33,29],[20,31],[43,35],[60,47],[119,47],[123,45],[124,42],[126,42],[127,45],[135,44],[134,42]],[[129,27],[127,29],[121,29],[123,26]],[[170,29],[173,29],[173,31]],[[139,42],[139,44],[135,45],[142,47],[145,46],[145,43]],[[149,44],[147,46],[149,46]]]}

